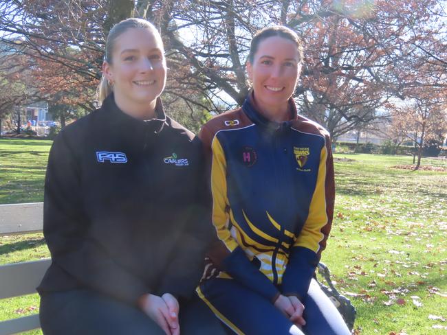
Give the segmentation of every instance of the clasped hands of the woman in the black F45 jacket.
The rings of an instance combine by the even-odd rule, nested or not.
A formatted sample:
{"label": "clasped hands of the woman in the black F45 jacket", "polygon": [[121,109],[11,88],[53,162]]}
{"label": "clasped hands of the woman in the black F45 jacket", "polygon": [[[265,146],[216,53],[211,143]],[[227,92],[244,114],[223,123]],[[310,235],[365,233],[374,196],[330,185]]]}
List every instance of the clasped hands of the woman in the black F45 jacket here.
{"label": "clasped hands of the woman in the black F45 jacket", "polygon": [[179,335],[179,303],[170,293],[162,297],[144,294],[138,300],[141,310],[146,313],[167,335]]}

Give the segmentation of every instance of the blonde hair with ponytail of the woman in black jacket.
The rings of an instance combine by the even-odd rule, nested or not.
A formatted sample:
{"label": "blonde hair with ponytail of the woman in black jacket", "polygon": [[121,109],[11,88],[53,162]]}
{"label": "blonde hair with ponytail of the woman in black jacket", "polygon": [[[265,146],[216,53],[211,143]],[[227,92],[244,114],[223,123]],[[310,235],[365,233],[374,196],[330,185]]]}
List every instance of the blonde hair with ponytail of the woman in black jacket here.
{"label": "blonde hair with ponytail of the woman in black jacket", "polygon": [[[113,25],[112,29],[109,32],[109,35],[107,36],[107,40],[105,43],[105,54],[104,54],[104,61],[108,62],[109,64],[112,64],[112,53],[113,49],[116,44],[116,39],[123,34],[124,32],[127,32],[129,29],[148,29],[155,34],[156,38],[160,38],[160,42],[162,42],[162,38],[157,31],[157,28],[150,23],[149,21],[143,20],[143,19],[125,19],[119,23],[116,23],[116,25]],[[163,43],[161,43],[163,45]],[[107,81],[107,78],[104,76],[104,73],[102,74],[101,81],[98,85],[98,100],[100,103],[102,103],[107,95],[113,92],[113,88],[111,84]]]}

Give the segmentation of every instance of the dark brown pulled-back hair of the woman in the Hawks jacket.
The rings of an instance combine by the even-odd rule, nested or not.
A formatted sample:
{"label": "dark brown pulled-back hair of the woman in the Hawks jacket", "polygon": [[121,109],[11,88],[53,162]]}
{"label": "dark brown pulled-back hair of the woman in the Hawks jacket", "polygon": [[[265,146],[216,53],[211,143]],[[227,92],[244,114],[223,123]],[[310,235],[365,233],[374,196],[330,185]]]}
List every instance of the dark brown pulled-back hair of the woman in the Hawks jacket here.
{"label": "dark brown pulled-back hair of the woman in the Hawks jacket", "polygon": [[283,25],[274,25],[273,27],[266,27],[263,30],[259,30],[259,32],[254,35],[250,45],[250,54],[248,54],[247,58],[250,63],[253,63],[254,61],[254,54],[257,53],[259,44],[266,38],[272,36],[279,36],[295,43],[296,49],[298,49],[298,56],[300,57],[298,61],[303,61],[303,42],[301,42],[301,39],[298,37],[296,32],[290,28],[284,27]]}

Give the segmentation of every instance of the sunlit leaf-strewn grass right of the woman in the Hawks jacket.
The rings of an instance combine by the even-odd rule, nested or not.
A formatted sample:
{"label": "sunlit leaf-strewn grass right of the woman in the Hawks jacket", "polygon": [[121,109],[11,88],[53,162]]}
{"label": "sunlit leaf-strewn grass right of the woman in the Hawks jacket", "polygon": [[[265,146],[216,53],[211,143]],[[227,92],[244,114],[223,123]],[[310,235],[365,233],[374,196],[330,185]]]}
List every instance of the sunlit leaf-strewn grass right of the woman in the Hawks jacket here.
{"label": "sunlit leaf-strewn grass right of the woman in the Hawks jacket", "polygon": [[357,308],[357,334],[446,334],[447,322],[429,316],[447,318],[447,172],[392,168],[411,157],[335,157],[336,209],[322,260]]}

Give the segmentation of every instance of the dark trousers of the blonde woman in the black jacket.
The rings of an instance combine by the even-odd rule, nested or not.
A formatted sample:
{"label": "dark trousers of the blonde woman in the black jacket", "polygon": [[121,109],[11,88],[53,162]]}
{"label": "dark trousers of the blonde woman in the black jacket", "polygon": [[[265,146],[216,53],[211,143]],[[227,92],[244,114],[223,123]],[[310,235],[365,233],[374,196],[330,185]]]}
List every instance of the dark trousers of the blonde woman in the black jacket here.
{"label": "dark trousers of the blonde woman in the black jacket", "polygon": [[[41,298],[40,318],[45,335],[164,334],[138,308],[91,290],[45,294]],[[179,318],[182,335],[225,334],[219,320],[200,299],[180,303]]]}

